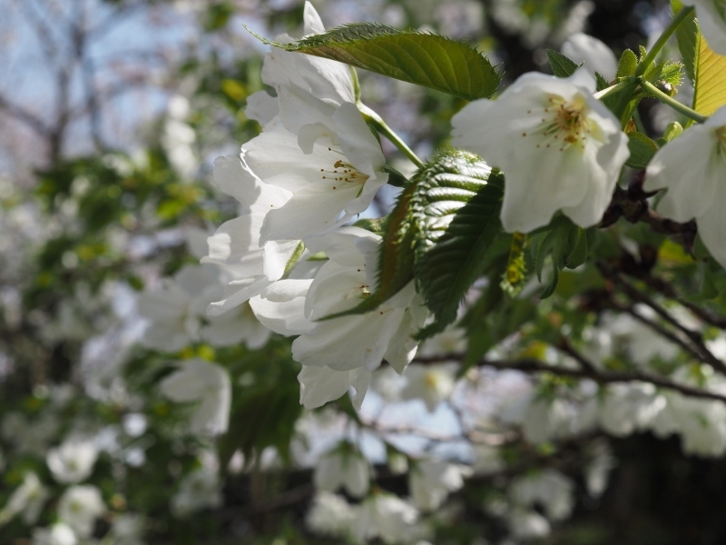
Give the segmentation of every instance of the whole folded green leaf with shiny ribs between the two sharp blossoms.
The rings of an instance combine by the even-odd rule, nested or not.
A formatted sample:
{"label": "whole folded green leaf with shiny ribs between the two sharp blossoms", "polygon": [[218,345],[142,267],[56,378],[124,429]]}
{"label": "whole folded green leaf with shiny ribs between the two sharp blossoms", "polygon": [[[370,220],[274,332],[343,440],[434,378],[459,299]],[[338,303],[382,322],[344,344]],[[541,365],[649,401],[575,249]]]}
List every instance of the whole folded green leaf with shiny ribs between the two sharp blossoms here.
{"label": "whole folded green leaf with shiny ribs between the two sharp blossoms", "polygon": [[323,320],[370,312],[414,278],[435,321],[426,338],[456,320],[459,302],[484,272],[501,233],[504,177],[477,155],[438,154],[411,178],[386,222],[378,285],[363,302]]}

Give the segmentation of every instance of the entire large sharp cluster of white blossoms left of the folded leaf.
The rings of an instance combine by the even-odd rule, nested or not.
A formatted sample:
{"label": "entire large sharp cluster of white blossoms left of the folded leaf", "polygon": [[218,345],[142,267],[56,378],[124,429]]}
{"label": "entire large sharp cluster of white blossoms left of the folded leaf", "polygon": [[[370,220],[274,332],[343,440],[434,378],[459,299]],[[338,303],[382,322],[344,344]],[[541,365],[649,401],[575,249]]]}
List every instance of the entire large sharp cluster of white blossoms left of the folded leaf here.
{"label": "entire large sharp cluster of white blossoms left of the folded leaf", "polygon": [[[305,34],[320,32],[319,15],[306,3]],[[240,203],[240,216],[210,237],[202,259],[232,277],[208,312],[249,300],[272,331],[299,335],[292,354],[303,364],[305,407],[353,387],[359,408],[384,358],[404,371],[416,352],[412,334],[426,320],[413,284],[373,312],[320,320],[351,310],[376,289],[380,238],[342,225],[388,182],[385,158],[358,111],[348,66],[276,50],[265,57],[262,79],[277,95],[252,95],[246,111],[262,134],[240,157],[215,162],[215,183]],[[308,262],[315,253],[328,261]],[[291,259],[299,262],[290,270]]]}

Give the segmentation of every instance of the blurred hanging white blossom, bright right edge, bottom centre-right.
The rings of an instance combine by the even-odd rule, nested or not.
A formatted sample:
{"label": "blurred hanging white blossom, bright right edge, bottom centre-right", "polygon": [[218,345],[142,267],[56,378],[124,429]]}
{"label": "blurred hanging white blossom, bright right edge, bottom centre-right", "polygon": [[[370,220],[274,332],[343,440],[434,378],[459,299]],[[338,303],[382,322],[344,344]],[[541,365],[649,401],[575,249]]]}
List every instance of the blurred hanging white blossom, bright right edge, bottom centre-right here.
{"label": "blurred hanging white blossom, bright right edge, bottom centre-right", "polygon": [[421,460],[408,471],[408,490],[420,510],[436,510],[450,492],[464,486],[471,468],[447,461]]}

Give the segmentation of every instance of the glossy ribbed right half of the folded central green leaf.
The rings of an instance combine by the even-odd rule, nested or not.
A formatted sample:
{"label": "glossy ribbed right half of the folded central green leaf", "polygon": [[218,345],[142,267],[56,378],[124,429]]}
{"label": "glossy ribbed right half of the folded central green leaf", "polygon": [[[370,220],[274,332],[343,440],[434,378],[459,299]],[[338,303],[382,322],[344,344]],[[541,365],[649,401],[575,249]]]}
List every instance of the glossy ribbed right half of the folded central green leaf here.
{"label": "glossy ribbed right half of the folded central green leaf", "polygon": [[415,222],[415,273],[435,321],[425,338],[456,320],[459,302],[484,272],[489,249],[502,232],[504,176],[465,152],[439,155],[417,174],[411,202]]}

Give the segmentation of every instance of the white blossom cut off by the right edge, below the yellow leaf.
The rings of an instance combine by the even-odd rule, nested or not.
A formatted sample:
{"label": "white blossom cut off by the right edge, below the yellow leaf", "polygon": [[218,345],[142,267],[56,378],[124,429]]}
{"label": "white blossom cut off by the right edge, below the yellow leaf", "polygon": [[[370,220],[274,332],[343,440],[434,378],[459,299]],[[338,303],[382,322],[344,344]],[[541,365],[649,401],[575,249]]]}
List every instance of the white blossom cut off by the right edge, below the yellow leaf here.
{"label": "white blossom cut off by the right edge, below the yellow leaf", "polygon": [[695,218],[714,259],[726,266],[726,106],[693,125],[653,156],[644,188],[667,189],[658,212],[677,222]]}

